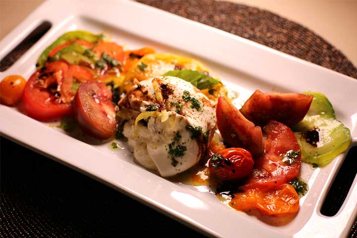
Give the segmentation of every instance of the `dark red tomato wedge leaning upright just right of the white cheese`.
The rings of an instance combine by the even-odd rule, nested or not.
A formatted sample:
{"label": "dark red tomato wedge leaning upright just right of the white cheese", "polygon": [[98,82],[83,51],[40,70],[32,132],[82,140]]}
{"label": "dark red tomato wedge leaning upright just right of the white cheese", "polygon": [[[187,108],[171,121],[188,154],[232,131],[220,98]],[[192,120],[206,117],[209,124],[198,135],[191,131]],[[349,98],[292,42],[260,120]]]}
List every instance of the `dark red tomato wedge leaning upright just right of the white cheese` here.
{"label": "dark red tomato wedge leaning upright just right of the white cheese", "polygon": [[218,99],[217,126],[224,141],[232,147],[248,150],[254,158],[264,152],[263,134],[259,126],[245,119],[224,97]]}

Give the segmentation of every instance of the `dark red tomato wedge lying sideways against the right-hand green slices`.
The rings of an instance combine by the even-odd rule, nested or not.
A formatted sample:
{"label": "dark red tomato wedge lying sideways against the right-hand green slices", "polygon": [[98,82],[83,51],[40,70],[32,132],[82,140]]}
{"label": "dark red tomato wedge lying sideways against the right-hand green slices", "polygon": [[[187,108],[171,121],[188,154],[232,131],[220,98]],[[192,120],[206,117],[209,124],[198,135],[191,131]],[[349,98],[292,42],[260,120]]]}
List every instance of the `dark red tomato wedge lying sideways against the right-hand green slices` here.
{"label": "dark red tomato wedge lying sideways against the right-hand green slices", "polygon": [[262,93],[256,90],[240,112],[256,125],[277,120],[292,126],[305,117],[312,99],[312,95],[300,93]]}

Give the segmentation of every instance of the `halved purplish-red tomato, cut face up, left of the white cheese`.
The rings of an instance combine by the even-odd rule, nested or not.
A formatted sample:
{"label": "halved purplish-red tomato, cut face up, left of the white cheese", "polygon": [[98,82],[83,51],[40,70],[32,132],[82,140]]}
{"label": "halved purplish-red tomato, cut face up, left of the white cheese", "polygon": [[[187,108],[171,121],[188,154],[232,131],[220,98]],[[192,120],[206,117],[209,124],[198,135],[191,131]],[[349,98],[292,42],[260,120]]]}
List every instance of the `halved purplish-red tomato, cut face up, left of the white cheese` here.
{"label": "halved purplish-red tomato, cut face up, left of the white cheese", "polygon": [[116,132],[116,113],[112,92],[99,82],[82,83],[74,97],[74,116],[84,131],[97,139],[108,139]]}

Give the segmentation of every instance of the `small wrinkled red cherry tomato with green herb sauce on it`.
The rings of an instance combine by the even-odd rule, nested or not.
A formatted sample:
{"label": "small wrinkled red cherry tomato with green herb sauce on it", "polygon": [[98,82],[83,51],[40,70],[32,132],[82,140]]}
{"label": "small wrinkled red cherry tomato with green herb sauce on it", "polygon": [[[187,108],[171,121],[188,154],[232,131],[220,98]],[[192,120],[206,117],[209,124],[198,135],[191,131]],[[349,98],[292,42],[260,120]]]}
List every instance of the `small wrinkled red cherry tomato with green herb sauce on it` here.
{"label": "small wrinkled red cherry tomato with green herb sauce on it", "polygon": [[211,156],[209,169],[220,179],[234,180],[249,175],[253,165],[254,161],[249,151],[229,148]]}

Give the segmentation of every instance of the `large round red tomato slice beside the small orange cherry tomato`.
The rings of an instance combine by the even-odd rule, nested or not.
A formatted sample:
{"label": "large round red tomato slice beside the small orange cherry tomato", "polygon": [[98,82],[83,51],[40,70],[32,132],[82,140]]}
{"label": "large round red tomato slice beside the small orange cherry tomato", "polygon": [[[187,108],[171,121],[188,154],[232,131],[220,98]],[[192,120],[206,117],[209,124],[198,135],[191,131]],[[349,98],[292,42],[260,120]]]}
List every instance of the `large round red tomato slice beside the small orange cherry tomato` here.
{"label": "large round red tomato slice beside the small orange cherry tomato", "polygon": [[38,69],[27,81],[22,98],[27,115],[38,120],[70,115],[72,80],[64,62],[48,63]]}

